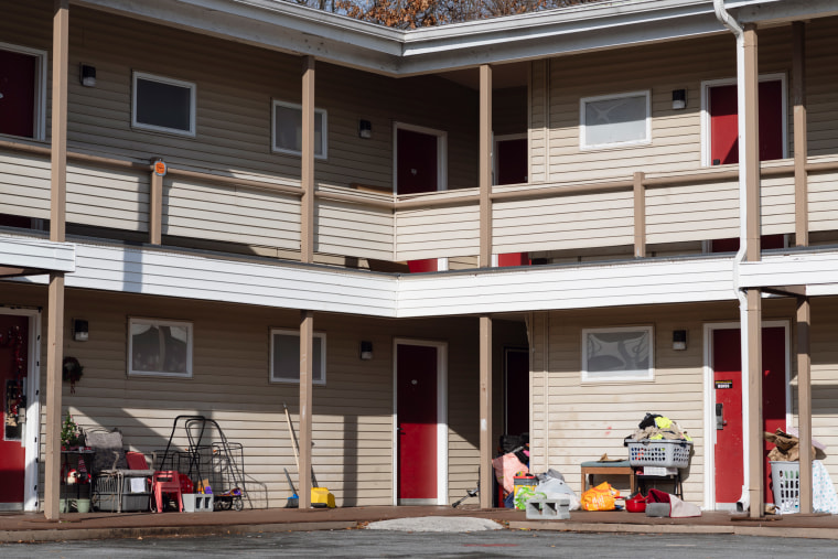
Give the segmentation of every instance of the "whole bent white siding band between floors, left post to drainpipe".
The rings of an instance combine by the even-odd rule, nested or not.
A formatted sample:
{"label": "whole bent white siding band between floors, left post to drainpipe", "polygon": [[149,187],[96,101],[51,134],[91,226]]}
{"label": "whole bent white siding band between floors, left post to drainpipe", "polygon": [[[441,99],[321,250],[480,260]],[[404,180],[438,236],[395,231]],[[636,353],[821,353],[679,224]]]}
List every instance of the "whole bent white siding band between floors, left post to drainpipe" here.
{"label": "whole bent white siding band between floors, left post to drainpipe", "polygon": [[[732,259],[387,275],[76,244],[69,288],[385,318],[732,300]],[[18,281],[45,283],[44,276]]]}

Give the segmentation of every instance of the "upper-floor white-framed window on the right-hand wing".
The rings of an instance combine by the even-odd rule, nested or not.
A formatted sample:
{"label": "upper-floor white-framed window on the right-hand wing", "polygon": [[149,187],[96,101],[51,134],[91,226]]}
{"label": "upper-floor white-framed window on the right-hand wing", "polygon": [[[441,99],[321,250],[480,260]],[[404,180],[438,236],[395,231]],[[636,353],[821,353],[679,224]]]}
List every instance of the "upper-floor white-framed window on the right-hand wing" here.
{"label": "upper-floor white-framed window on the right-hand wing", "polygon": [[583,150],[649,143],[649,90],[582,97],[579,147]]}

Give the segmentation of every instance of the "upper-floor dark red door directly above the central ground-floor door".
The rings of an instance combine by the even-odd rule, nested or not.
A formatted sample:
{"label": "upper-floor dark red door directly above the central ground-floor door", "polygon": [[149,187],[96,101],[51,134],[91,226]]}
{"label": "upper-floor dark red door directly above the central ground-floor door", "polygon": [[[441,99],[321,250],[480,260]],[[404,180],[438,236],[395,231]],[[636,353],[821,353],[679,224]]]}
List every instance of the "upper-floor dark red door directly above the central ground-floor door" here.
{"label": "upper-floor dark red door directly above the central ground-floor door", "polygon": [[396,146],[396,193],[436,192],[437,137],[399,128]]}

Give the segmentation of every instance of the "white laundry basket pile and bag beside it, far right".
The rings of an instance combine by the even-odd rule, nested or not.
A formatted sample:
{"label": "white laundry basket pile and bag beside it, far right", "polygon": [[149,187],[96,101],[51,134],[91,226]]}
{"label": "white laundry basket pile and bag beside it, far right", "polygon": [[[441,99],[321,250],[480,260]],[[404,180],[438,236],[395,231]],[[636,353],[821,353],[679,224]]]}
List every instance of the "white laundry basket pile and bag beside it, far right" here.
{"label": "white laundry basket pile and bag beside it, far right", "polygon": [[[769,452],[775,510],[780,514],[801,509],[801,440],[797,429],[765,432],[766,441],[775,444]],[[826,445],[812,439],[813,458],[825,456]],[[838,494],[821,460],[812,461],[812,508],[816,513],[838,514]]]}

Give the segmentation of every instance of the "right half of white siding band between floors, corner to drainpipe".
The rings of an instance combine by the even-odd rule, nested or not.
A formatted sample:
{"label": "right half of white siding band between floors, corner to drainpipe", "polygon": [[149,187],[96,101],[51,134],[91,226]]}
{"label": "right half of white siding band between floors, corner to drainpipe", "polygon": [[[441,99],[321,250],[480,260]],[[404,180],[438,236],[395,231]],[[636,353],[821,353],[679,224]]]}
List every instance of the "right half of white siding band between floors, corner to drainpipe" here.
{"label": "right half of white siding band between floors, corner to drainpipe", "polygon": [[726,301],[732,268],[726,257],[401,276],[398,316]]}

